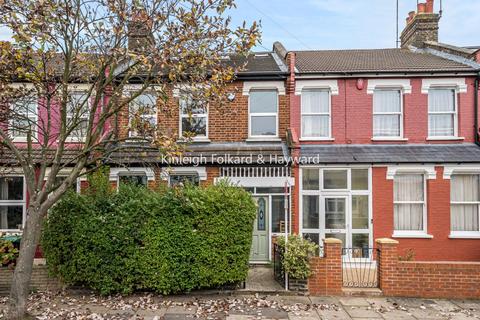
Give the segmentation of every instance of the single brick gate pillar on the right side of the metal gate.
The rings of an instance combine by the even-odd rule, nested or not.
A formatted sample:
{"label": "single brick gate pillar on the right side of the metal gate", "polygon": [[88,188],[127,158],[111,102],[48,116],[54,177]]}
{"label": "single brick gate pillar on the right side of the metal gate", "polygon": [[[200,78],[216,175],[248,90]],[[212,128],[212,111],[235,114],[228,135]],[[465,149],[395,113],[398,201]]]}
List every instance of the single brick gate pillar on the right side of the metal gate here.
{"label": "single brick gate pillar on the right side of the metal gate", "polygon": [[378,285],[384,295],[389,295],[394,289],[398,264],[398,241],[381,238],[375,241],[379,254],[377,255]]}

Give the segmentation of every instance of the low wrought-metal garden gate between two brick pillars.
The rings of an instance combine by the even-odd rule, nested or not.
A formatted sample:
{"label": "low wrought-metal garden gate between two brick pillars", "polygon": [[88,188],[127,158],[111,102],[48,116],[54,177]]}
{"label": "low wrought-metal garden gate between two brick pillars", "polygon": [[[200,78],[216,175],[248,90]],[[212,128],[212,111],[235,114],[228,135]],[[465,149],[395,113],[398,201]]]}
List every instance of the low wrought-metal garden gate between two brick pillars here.
{"label": "low wrought-metal garden gate between two brick pillars", "polygon": [[377,288],[376,249],[342,248],[342,280],[348,288]]}

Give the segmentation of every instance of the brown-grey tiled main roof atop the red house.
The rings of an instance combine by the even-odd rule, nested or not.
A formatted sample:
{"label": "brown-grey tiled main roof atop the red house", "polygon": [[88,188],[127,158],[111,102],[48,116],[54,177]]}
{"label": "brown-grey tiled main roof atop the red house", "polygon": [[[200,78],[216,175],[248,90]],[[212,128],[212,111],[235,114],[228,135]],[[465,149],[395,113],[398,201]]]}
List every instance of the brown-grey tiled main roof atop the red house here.
{"label": "brown-grey tiled main roof atop the red house", "polygon": [[300,73],[452,72],[474,68],[408,49],[295,51]]}

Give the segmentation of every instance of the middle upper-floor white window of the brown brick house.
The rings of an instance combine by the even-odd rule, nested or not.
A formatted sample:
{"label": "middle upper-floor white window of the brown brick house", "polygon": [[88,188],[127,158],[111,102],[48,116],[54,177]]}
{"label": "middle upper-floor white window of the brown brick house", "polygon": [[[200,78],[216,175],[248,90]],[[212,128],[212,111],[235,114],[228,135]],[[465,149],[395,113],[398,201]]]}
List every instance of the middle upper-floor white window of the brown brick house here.
{"label": "middle upper-floor white window of the brown brick house", "polygon": [[183,93],[179,97],[180,137],[208,139],[208,103],[201,97]]}

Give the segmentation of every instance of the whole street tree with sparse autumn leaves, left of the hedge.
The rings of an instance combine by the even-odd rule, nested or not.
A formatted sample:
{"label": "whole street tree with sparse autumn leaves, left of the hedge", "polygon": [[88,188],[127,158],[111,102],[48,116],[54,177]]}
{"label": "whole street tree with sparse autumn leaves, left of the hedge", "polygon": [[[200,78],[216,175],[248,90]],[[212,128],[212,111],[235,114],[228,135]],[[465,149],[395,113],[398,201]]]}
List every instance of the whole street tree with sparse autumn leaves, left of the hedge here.
{"label": "whole street tree with sparse autumn leaves, left of the hedge", "polygon": [[134,106],[130,140],[168,153],[177,150],[173,137],[148,121],[168,88],[222,99],[242,68],[225,54],[246,54],[258,37],[255,23],[230,26],[234,8],[233,0],[0,0],[0,25],[14,39],[0,44],[1,167],[21,167],[29,195],[11,319],[27,316],[47,211],[125,145],[115,128],[120,110]]}

